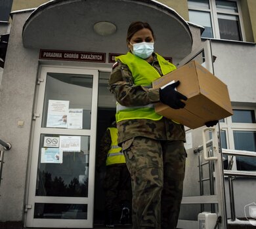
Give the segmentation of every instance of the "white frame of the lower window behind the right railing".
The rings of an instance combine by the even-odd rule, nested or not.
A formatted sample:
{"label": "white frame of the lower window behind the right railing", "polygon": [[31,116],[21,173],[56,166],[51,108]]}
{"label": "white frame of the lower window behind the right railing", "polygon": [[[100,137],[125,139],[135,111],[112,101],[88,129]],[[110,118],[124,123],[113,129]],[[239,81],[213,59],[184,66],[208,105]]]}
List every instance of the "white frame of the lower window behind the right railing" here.
{"label": "white frame of the lower window behind the right railing", "polygon": [[[232,107],[234,110],[250,110],[254,112],[256,116],[256,107]],[[235,149],[234,144],[234,131],[244,131],[244,132],[256,132],[256,123],[242,123],[242,122],[232,122],[232,116],[224,118],[224,122],[219,122],[221,131],[226,132],[226,145],[228,149]],[[228,162],[230,161],[228,156]],[[236,166],[236,156],[233,158],[234,164],[232,166],[233,170],[237,170]]]}

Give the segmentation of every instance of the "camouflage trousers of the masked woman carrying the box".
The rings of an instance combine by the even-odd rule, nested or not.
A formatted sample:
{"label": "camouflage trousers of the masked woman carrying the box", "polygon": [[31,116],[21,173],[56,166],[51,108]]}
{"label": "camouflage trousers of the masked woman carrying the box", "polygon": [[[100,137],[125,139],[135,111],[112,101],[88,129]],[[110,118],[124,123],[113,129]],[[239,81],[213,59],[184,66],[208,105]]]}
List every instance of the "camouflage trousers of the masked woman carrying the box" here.
{"label": "camouflage trousers of the masked woman carrying the box", "polygon": [[135,137],[122,144],[131,173],[133,229],[174,229],[182,199],[186,151],[182,141]]}

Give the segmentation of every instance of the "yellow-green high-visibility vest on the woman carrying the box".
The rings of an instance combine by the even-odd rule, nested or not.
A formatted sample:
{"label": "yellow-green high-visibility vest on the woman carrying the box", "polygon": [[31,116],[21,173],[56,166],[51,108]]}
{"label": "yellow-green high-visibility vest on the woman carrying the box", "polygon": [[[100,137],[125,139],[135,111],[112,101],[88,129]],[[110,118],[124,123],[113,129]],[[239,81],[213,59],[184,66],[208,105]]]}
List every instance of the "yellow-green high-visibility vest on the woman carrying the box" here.
{"label": "yellow-green high-visibility vest on the woman carrying the box", "polygon": [[[175,70],[176,67],[170,62],[167,62],[163,57],[156,54],[163,75]],[[160,73],[150,63],[142,58],[127,52],[125,55],[117,56],[116,60],[120,60],[127,65],[133,75],[135,85],[151,86],[152,82],[161,77]],[[147,118],[151,120],[160,120],[163,116],[155,112],[154,105],[148,104],[138,107],[124,107],[117,103],[116,121],[129,119]]]}

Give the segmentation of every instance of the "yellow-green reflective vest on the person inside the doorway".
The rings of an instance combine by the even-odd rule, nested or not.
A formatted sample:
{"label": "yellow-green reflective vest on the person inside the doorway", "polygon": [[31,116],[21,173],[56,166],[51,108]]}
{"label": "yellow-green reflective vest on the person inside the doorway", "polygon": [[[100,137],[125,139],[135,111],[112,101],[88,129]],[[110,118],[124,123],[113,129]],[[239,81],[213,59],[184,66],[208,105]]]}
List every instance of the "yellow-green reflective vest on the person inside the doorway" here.
{"label": "yellow-green reflective vest on the person inside the doorway", "polygon": [[117,145],[117,128],[108,128],[108,130],[110,130],[112,143],[110,150],[108,150],[106,166],[125,163],[125,156],[123,156],[122,149]]}

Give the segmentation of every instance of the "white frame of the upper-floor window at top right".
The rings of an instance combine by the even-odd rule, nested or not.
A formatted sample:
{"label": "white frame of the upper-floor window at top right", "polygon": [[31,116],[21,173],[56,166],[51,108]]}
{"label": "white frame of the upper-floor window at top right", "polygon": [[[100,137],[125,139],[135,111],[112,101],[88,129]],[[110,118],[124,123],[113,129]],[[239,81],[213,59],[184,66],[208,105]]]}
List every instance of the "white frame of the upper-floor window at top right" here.
{"label": "white frame of the upper-floor window at top right", "polygon": [[[189,1],[189,0],[188,0]],[[241,33],[241,41],[245,41],[245,33],[244,33],[244,24],[242,20],[242,10],[240,6],[240,0],[226,0],[226,1],[235,1],[238,12],[229,12],[226,10],[221,10],[216,7],[216,1],[215,0],[208,0],[209,2],[209,9],[200,9],[198,7],[188,7],[188,14],[190,10],[198,11],[198,12],[209,12],[210,13],[210,20],[211,20],[211,27],[213,31],[213,38],[211,37],[202,37],[206,39],[221,39],[221,34],[219,31],[219,22],[218,22],[218,14],[228,14],[231,16],[238,16],[238,22],[240,24],[240,33]],[[227,40],[227,39],[221,39],[221,40]],[[234,41],[234,40],[227,40],[227,41]]]}

